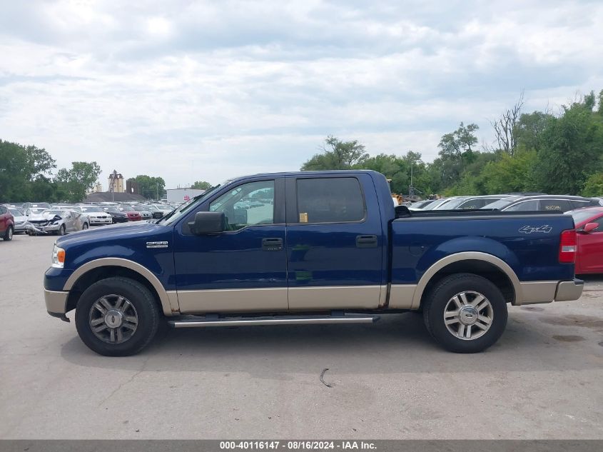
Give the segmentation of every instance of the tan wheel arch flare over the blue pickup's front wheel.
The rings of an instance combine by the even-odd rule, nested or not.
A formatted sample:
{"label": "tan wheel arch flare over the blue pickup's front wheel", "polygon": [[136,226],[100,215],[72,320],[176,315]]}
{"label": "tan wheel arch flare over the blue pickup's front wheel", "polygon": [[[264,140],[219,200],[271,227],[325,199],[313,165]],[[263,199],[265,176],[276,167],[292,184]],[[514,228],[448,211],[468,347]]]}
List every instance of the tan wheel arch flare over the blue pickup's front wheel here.
{"label": "tan wheel arch flare over the blue pickup's front wheel", "polygon": [[166,291],[161,281],[148,268],[123,258],[88,261],[71,273],[63,287],[64,291],[69,291],[66,311],[76,307],[79,296],[91,283],[111,276],[123,276],[143,283],[156,297],[164,315],[173,316],[180,312],[176,291]]}

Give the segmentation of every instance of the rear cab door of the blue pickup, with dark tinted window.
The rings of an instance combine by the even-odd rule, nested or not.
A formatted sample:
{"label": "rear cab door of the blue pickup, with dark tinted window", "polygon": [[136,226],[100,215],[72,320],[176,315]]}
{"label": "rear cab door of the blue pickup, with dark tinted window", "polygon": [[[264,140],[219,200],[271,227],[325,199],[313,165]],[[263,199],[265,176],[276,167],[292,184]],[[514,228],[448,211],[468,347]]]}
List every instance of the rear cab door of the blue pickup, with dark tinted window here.
{"label": "rear cab door of the blue pickup, with dark tinted window", "polygon": [[373,179],[288,176],[286,192],[289,308],[377,308],[384,233]]}

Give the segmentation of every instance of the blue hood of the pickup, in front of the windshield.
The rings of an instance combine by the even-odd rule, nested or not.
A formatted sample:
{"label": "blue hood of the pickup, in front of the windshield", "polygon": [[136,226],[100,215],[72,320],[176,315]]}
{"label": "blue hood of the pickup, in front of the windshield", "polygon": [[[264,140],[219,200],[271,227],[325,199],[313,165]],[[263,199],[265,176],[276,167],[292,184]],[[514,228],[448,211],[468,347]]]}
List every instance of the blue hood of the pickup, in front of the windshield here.
{"label": "blue hood of the pickup, in front of the windshield", "polygon": [[90,228],[86,231],[73,232],[57,239],[56,244],[59,246],[69,246],[71,244],[88,242],[101,244],[103,242],[111,242],[121,238],[134,239],[144,236],[153,236],[161,231],[166,231],[166,228],[171,229],[173,226],[163,226],[148,221],[119,223],[103,226],[102,228]]}

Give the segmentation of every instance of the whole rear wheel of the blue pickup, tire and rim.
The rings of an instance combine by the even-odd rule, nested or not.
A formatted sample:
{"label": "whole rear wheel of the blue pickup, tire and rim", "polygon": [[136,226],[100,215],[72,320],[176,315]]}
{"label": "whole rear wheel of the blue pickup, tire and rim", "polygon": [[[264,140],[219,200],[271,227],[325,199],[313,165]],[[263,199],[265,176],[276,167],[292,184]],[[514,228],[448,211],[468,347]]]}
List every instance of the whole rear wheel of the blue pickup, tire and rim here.
{"label": "whole rear wheel of the blue pickup, tire and rim", "polygon": [[505,331],[507,303],[486,278],[456,273],[427,293],[423,319],[442,347],[455,353],[477,353],[492,346]]}

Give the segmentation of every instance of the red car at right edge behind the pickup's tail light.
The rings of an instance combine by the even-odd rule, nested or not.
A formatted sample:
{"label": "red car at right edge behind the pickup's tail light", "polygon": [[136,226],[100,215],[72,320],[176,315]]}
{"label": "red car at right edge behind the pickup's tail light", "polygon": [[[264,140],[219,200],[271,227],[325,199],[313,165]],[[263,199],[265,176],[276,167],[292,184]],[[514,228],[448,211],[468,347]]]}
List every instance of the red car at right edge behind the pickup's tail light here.
{"label": "red car at right edge behind the pickup's tail light", "polygon": [[569,212],[576,225],[576,274],[603,273],[603,206]]}

